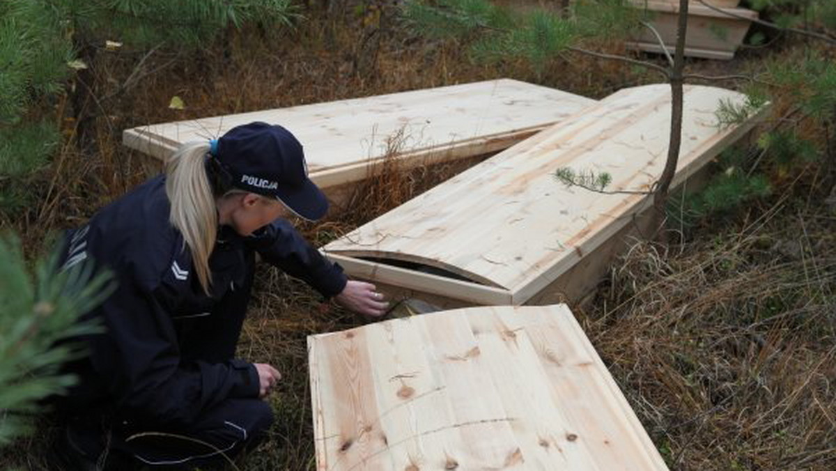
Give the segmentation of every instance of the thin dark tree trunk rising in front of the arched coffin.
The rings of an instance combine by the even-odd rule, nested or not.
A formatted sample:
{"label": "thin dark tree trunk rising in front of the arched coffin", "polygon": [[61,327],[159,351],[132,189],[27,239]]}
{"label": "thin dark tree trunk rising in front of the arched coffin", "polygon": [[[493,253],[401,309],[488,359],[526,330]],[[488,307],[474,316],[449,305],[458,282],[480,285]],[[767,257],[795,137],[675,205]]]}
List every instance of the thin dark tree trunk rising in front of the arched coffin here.
{"label": "thin dark tree trunk rising in front of the arched coffin", "polygon": [[[665,170],[656,185],[653,198],[656,216],[659,218],[659,226],[665,223],[665,204],[668,200],[670,182],[673,181],[676,173],[676,163],[679,161],[680,147],[682,143],[682,70],[685,68],[685,38],[688,29],[688,0],[680,0],[679,22],[676,32],[676,50],[674,53],[674,68],[670,74],[670,144],[668,146],[668,157],[665,161]],[[664,241],[664,231],[660,230],[661,240]]]}

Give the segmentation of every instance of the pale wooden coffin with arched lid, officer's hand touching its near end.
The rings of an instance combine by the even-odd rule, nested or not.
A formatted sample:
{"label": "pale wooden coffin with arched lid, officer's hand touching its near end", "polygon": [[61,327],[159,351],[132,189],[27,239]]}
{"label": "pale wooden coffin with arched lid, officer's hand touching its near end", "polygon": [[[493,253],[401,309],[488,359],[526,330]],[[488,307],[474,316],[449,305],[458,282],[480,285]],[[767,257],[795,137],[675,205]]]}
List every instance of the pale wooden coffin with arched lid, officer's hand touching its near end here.
{"label": "pale wooden coffin with arched lid, officer's hand touching its near end", "polygon": [[[746,98],[730,90],[686,85],[675,182],[704,166],[759,120],[760,115],[752,116],[745,124],[719,129],[715,111],[721,100],[742,104]],[[504,290],[512,304],[523,304],[650,205],[645,194],[565,187],[554,172],[561,167],[608,172],[609,191],[645,192],[665,165],[669,123],[667,84],[620,90],[329,243],[324,253],[344,264],[349,274],[356,259],[413,262],[486,289]],[[388,270],[384,264],[370,265]],[[397,270],[396,284],[426,289],[423,281],[408,279],[408,270]],[[358,276],[375,279],[375,273],[372,267]],[[441,284],[441,279],[432,283]],[[456,289],[448,291],[444,295],[456,297]]]}

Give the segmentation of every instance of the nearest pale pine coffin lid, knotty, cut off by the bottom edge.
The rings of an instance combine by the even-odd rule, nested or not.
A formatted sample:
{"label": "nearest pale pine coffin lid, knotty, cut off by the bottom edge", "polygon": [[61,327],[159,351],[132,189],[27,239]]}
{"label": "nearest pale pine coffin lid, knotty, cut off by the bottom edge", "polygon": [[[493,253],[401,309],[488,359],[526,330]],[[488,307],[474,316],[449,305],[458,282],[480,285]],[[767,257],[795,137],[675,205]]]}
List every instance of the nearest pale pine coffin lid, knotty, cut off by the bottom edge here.
{"label": "nearest pale pine coffin lid, knotty, cut off by the bottom edge", "polygon": [[442,311],[308,346],[319,470],[666,469],[565,305]]}

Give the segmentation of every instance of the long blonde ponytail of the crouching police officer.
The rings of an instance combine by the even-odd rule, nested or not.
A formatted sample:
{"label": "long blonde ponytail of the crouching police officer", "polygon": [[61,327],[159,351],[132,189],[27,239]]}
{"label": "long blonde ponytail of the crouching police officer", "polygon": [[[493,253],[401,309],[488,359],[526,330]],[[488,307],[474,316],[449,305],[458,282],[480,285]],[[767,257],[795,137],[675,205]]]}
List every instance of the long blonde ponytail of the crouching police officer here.
{"label": "long blonde ponytail of the crouching police officer", "polygon": [[197,279],[209,294],[212,274],[209,256],[217,237],[215,194],[204,161],[208,142],[191,142],[178,149],[166,165],[166,195],[171,202],[171,224],[183,234],[191,250]]}

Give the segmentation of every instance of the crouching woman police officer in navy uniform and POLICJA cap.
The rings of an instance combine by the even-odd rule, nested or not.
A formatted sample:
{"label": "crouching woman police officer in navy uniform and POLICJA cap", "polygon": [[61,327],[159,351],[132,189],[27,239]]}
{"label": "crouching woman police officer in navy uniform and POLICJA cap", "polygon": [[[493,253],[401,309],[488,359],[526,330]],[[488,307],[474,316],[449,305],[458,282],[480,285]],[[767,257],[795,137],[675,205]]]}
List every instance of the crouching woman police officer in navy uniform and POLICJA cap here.
{"label": "crouching woman police officer in navy uniform and POLICJA cap", "polygon": [[[301,144],[281,126],[240,125],[182,146],[156,177],[71,231],[65,267],[92,259],[115,294],[89,317],[105,331],[72,366],[59,460],[94,469],[105,453],[150,466],[206,465],[251,445],[273,420],[273,366],[233,358],[255,253],[366,315],[386,303],[345,278],[282,217],[315,220],[328,203]],[[125,463],[118,466],[124,467]]]}

